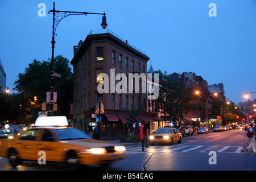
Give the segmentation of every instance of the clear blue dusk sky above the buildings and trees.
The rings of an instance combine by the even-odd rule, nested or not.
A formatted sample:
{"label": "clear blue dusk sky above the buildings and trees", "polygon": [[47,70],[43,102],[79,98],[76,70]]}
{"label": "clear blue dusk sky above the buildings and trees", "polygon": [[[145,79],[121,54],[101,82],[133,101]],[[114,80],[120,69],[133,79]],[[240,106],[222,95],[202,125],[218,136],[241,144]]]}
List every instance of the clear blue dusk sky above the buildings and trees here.
{"label": "clear blue dusk sky above the buildings and trees", "polygon": [[[38,16],[39,3],[46,16]],[[217,16],[209,16],[210,3]],[[53,1],[0,1],[0,59],[6,86],[14,87],[34,59],[51,57]],[[56,10],[106,13],[108,29],[146,52],[154,70],[194,72],[212,84],[224,84],[230,101],[245,102],[256,92],[255,0],[56,0]],[[91,30],[101,29],[102,15],[74,15],[61,20],[55,56],[73,58],[73,46]],[[12,91],[14,92],[14,91]],[[250,94],[250,99],[256,94]]]}

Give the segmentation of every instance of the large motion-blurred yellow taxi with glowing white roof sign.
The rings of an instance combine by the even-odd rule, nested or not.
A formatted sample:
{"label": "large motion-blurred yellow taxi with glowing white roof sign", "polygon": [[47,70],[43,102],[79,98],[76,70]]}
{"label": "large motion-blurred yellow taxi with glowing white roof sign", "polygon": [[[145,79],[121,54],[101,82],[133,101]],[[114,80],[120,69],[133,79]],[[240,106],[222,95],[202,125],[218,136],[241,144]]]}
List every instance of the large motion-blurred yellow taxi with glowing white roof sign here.
{"label": "large motion-blurred yellow taxi with glowing white roof sign", "polygon": [[[9,158],[11,166],[21,160],[64,162],[68,169],[84,164],[102,164],[125,159],[126,148],[94,140],[79,129],[68,127],[66,117],[40,117],[34,127],[2,141],[0,156]],[[43,158],[45,157],[45,158]]]}

